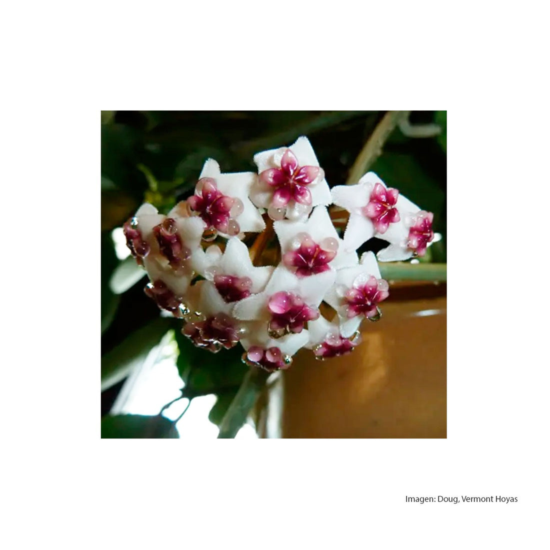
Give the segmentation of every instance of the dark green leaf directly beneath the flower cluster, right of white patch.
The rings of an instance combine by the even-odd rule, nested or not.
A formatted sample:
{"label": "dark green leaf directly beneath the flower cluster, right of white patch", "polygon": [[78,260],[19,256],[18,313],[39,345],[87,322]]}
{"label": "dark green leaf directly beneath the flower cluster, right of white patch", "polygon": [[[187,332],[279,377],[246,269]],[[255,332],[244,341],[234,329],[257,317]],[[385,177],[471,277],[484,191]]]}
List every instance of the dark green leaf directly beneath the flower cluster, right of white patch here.
{"label": "dark green leaf directly beneath the flower cluster, right of white patch", "polygon": [[179,330],[175,331],[179,347],[178,372],[185,383],[183,394],[193,398],[237,389],[248,371],[241,361],[243,348],[222,349],[211,353],[194,346]]}

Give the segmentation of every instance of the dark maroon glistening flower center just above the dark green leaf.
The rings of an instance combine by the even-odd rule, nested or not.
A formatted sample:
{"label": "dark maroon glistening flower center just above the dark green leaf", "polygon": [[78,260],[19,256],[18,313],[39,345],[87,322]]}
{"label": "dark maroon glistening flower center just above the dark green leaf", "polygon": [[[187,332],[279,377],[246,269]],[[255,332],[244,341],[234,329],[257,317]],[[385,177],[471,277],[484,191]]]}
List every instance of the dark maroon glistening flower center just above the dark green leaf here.
{"label": "dark maroon glistening flower center just above the dark green leaf", "polygon": [[216,353],[222,348],[233,348],[239,342],[239,328],[232,317],[218,313],[205,321],[188,322],[182,334],[191,339],[197,348],[207,348]]}

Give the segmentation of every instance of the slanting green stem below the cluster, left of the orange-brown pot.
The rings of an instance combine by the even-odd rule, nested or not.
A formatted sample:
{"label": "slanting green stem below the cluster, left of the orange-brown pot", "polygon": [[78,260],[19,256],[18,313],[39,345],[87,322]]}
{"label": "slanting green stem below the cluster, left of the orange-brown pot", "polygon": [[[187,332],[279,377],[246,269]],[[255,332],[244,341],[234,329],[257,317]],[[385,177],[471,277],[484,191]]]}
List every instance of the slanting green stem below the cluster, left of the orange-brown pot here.
{"label": "slanting green stem below the cluster, left of the orange-brown pot", "polygon": [[270,373],[261,368],[250,367],[219,425],[218,439],[230,439],[237,435],[269,376]]}

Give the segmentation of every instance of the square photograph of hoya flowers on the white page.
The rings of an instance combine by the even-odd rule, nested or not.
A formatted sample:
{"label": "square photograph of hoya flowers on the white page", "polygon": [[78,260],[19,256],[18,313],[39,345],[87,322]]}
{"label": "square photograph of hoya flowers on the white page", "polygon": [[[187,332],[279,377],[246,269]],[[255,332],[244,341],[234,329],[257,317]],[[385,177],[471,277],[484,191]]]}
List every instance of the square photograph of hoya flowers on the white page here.
{"label": "square photograph of hoya flowers on the white page", "polygon": [[446,111],[102,111],[102,438],[447,437]]}

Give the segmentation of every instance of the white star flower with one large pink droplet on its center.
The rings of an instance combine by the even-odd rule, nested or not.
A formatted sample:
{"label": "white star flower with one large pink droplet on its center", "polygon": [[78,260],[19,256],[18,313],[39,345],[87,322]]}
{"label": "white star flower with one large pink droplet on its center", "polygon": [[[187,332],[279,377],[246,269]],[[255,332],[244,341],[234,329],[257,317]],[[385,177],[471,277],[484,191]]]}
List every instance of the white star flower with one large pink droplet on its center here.
{"label": "white star flower with one large pink droplet on its center", "polygon": [[335,273],[330,270],[299,278],[279,265],[265,290],[241,300],[235,305],[233,315],[242,320],[267,321],[273,338],[300,333],[307,322],[319,316],[319,304],[334,278]]}

